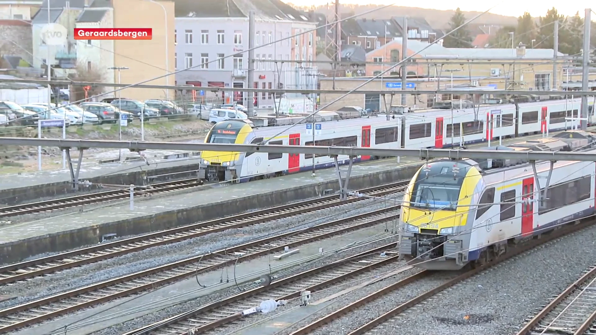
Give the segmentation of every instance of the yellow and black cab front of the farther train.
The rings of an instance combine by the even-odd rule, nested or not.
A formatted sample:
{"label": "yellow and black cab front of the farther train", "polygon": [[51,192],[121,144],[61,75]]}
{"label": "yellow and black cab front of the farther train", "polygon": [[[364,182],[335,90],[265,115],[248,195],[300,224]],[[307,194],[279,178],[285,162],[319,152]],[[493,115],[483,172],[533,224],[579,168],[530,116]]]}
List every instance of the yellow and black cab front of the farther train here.
{"label": "yellow and black cab front of the farther train", "polygon": [[[240,120],[216,123],[207,133],[205,143],[244,144],[252,128]],[[242,168],[243,153],[226,151],[201,152],[199,176],[210,182],[238,182]]]}

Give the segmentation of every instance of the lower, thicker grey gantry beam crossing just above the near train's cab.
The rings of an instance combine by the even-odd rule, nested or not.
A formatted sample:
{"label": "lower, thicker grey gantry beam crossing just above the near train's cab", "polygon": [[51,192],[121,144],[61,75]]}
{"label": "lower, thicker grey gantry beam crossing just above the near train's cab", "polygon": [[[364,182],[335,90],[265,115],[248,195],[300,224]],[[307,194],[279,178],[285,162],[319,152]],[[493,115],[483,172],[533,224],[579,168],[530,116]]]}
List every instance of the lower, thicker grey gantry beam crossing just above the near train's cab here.
{"label": "lower, thicker grey gantry beam crossing just above the near train's cab", "polygon": [[576,153],[568,151],[509,151],[509,150],[470,150],[470,149],[376,149],[361,147],[323,147],[296,145],[257,145],[257,144],[218,144],[218,143],[184,143],[184,142],[138,142],[108,141],[91,139],[53,139],[53,138],[21,138],[0,137],[0,145],[32,145],[60,148],[113,148],[137,150],[187,150],[187,151],[240,151],[262,153],[297,153],[347,156],[379,156],[379,157],[420,157],[421,159],[453,158],[453,159],[526,159],[526,160],[576,160],[596,162],[596,153]]}

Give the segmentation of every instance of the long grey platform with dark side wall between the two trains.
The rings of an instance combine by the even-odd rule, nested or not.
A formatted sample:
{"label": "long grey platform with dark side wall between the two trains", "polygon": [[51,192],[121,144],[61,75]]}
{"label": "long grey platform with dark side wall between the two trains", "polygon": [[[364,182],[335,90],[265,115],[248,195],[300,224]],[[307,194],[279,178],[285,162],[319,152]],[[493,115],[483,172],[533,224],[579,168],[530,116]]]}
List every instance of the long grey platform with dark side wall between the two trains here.
{"label": "long grey platform with dark side wall between the two trains", "polygon": [[[411,178],[421,166],[418,158],[386,159],[352,166],[350,190]],[[344,171],[347,167],[342,168]],[[0,228],[0,263],[97,244],[103,235],[117,237],[158,231],[221,218],[291,201],[319,197],[339,190],[336,169],[296,173],[201,191],[139,198]]]}

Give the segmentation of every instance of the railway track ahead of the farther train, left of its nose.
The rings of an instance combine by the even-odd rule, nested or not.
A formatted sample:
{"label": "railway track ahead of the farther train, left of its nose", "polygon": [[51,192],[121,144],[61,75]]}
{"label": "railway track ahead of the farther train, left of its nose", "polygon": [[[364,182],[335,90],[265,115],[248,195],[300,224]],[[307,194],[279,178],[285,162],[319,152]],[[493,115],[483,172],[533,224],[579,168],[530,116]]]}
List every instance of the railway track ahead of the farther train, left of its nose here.
{"label": "railway track ahead of the farther train, left of its nose", "polygon": [[[200,185],[203,184],[198,182],[197,178],[167,181],[160,182],[159,184],[148,185],[147,188],[143,188],[142,193],[158,194],[182,190],[184,188],[197,187]],[[128,198],[130,194],[131,192],[129,190],[110,190],[52,200],[37,201],[35,203],[15,204],[14,206],[1,207],[0,218],[32,213],[51,212],[52,210],[82,206],[84,204]]]}

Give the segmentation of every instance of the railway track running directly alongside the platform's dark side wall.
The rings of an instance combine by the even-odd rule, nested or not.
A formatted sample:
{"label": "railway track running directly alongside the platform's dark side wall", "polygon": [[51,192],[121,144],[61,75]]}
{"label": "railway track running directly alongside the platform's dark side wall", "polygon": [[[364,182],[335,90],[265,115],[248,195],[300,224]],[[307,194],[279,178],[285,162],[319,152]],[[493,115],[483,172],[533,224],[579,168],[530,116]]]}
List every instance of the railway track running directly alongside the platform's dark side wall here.
{"label": "railway track running directly alongside the platform's dark side wall", "polygon": [[[391,184],[365,188],[358,192],[367,196],[384,196],[403,190],[407,183],[408,181],[393,182]],[[200,237],[213,232],[261,224],[267,221],[315,212],[316,210],[342,206],[363,199],[363,197],[350,197],[347,200],[340,201],[339,196],[334,194],[164,231],[151,232],[137,237],[126,238],[125,240],[102,243],[97,246],[27,260],[26,262],[0,266],[0,285],[28,280],[33,277],[51,274],[52,272],[99,262],[100,260],[122,256],[126,253],[138,252],[150,247],[188,240],[189,238]]]}

